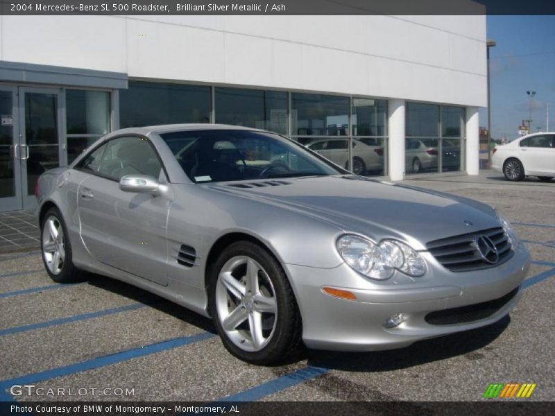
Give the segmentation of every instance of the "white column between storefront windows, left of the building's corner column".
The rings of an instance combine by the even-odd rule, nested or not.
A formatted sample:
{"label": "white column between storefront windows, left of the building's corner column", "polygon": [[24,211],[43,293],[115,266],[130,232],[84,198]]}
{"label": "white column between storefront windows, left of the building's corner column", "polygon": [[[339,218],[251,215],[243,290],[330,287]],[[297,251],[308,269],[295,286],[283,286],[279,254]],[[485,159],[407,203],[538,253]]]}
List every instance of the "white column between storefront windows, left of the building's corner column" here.
{"label": "white column between storefront windows, left of the building's corner column", "polygon": [[391,180],[404,177],[404,100],[391,99],[388,112],[388,164]]}

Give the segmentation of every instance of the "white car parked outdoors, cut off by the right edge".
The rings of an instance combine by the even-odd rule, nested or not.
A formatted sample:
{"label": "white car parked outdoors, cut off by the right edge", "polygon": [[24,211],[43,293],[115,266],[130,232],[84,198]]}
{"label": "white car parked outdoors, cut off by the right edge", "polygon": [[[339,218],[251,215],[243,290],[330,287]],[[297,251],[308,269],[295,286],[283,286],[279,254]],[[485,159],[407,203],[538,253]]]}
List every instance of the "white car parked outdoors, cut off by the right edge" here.
{"label": "white car parked outdoors, cut off by the right edge", "polygon": [[492,168],[507,180],[537,176],[540,180],[555,177],[555,133],[535,133],[493,149]]}

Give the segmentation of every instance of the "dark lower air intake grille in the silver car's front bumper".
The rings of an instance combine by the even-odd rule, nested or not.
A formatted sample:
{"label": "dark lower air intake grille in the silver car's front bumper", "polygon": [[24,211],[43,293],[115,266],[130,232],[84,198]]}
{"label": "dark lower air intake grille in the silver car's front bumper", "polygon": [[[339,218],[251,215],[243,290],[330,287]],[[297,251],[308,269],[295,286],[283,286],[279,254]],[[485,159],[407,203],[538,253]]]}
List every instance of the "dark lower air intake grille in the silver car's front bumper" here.
{"label": "dark lower air intake grille in the silver car's front bumper", "polygon": [[508,304],[518,293],[518,289],[514,288],[506,295],[488,302],[430,312],[424,319],[431,325],[456,325],[489,318]]}

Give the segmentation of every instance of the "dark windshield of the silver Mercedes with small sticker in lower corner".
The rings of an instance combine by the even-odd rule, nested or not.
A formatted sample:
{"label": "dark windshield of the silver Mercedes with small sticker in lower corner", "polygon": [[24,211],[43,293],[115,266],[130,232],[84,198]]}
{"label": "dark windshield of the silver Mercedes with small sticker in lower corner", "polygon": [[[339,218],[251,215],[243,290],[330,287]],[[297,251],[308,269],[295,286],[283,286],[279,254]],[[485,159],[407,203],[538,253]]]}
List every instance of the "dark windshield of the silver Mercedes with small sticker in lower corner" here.
{"label": "dark windshield of the silver Mercedes with small sticker in lower corner", "polygon": [[196,183],[345,173],[300,144],[271,133],[196,130],[160,136]]}

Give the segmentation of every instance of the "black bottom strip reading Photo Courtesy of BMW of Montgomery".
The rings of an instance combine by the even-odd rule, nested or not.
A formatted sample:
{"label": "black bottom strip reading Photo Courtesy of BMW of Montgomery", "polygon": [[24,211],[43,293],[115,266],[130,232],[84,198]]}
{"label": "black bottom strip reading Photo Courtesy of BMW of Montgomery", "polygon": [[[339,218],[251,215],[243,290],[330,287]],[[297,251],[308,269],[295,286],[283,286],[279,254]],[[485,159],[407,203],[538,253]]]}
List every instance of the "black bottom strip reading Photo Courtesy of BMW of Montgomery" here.
{"label": "black bottom strip reading Photo Courtesy of BMW of Montgomery", "polygon": [[1,402],[0,415],[37,416],[308,416],[308,415],[553,415],[553,402],[527,399],[507,401],[439,402]]}

